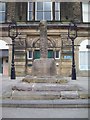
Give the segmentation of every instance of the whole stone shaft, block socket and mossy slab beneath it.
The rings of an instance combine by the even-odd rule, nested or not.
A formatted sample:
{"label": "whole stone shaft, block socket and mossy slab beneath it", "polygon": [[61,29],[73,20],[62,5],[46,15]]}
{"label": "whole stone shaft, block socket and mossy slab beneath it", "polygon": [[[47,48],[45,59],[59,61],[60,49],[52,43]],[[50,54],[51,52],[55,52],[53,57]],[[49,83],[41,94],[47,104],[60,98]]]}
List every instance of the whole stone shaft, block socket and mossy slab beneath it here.
{"label": "whole stone shaft, block socket and mossy slab beneath it", "polygon": [[48,58],[47,22],[40,21],[40,59],[35,59],[32,64],[31,75],[23,78],[28,83],[62,83],[67,82],[56,74],[56,63],[54,58]]}

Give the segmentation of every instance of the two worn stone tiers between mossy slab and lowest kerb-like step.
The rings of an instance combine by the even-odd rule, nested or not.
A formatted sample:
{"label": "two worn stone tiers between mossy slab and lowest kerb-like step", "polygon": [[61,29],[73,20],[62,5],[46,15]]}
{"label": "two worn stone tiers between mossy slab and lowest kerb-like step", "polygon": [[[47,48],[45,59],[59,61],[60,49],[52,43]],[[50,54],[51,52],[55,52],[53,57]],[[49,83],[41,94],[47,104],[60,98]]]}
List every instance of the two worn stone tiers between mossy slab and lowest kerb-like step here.
{"label": "two worn stone tiers between mossy slab and lowest kerb-like step", "polygon": [[[7,93],[7,92],[6,92]],[[3,99],[12,100],[58,100],[88,99],[88,93],[82,87],[70,83],[26,83],[20,82],[12,87]]]}

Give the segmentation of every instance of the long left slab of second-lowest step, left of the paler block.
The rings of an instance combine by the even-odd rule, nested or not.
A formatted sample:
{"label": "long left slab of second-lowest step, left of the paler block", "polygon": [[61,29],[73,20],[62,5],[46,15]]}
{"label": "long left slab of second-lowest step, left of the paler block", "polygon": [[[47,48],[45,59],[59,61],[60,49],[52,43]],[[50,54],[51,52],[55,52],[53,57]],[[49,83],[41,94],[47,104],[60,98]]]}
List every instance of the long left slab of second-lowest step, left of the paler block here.
{"label": "long left slab of second-lowest step, left of the paler block", "polygon": [[60,92],[35,92],[35,91],[13,91],[12,92],[12,99],[19,99],[19,100],[52,100],[52,99],[60,99]]}

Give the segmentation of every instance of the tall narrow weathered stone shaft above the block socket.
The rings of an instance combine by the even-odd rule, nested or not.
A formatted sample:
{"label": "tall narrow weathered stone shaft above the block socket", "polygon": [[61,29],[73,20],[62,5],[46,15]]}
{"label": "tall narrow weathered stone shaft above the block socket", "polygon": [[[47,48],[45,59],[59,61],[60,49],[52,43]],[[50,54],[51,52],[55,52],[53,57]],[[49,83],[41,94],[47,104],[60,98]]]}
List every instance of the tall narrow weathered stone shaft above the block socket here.
{"label": "tall narrow weathered stone shaft above the block socket", "polygon": [[47,23],[40,21],[40,57],[47,58],[48,55],[48,40],[47,40]]}

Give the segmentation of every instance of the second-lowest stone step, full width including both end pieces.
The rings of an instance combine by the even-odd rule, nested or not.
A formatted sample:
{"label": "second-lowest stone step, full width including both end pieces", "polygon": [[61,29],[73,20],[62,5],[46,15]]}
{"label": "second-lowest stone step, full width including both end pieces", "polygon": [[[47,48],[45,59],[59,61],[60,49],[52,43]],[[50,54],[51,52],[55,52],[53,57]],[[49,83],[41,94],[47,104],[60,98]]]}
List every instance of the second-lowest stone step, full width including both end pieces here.
{"label": "second-lowest stone step, full width including both end pieces", "polygon": [[88,99],[88,93],[79,91],[18,91],[3,94],[3,99],[14,100],[54,100],[54,99]]}

